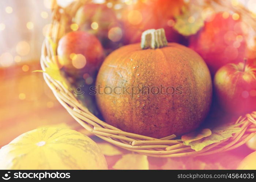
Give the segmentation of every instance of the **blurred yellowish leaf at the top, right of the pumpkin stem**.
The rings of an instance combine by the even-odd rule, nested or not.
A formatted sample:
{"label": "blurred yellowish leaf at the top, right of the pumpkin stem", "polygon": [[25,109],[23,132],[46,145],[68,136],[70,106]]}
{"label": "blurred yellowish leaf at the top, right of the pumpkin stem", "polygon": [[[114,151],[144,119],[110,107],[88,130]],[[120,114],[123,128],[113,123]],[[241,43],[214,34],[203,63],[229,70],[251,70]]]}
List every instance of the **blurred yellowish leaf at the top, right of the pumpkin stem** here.
{"label": "blurred yellowish leaf at the top, right of the pumpkin stem", "polygon": [[175,17],[174,29],[185,36],[197,33],[204,26],[204,18],[201,15],[202,11],[202,7],[193,4],[182,8],[182,14]]}

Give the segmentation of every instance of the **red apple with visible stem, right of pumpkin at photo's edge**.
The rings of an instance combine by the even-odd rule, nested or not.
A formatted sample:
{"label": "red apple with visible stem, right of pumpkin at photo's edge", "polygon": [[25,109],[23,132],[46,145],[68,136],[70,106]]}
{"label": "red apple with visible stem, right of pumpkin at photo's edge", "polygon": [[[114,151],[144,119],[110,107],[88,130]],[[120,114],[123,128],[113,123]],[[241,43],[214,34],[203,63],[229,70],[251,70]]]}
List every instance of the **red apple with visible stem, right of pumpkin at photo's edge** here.
{"label": "red apple with visible stem, right of pumpkin at photo's edge", "polygon": [[229,63],[215,74],[214,86],[219,103],[227,112],[256,111],[256,67]]}

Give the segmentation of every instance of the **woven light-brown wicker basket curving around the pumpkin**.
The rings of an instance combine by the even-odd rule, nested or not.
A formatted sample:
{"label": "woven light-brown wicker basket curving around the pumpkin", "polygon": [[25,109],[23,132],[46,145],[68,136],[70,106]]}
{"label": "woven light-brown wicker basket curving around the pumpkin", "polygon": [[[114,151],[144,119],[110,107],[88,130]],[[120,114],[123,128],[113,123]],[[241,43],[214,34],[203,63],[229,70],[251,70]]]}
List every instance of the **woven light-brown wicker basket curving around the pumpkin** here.
{"label": "woven light-brown wicker basket curving around the pumpkin", "polygon": [[[57,45],[59,38],[64,35],[65,31],[62,31],[63,28],[61,26],[65,26],[65,23],[67,24],[68,21],[70,22],[78,8],[86,2],[87,0],[75,1],[65,9],[58,7],[55,3],[53,4],[51,28],[42,46],[41,67],[43,70],[49,66],[49,62],[56,61],[56,46],[54,47],[52,44],[55,43]],[[46,73],[44,73],[44,79],[57,100],[86,130],[113,145],[140,154],[152,157],[184,157],[214,154],[235,149],[256,134],[255,111],[251,114],[240,116],[240,118],[234,121],[234,123],[240,123],[237,127],[241,127],[242,130],[234,134],[233,137],[213,143],[201,151],[194,151],[190,146],[184,145],[182,141],[174,139],[175,135],[156,139],[121,131],[94,116],[76,99],[73,92],[65,88],[59,81],[51,78]]]}

